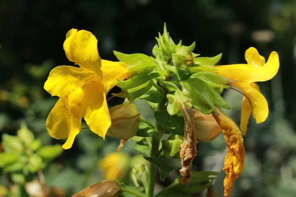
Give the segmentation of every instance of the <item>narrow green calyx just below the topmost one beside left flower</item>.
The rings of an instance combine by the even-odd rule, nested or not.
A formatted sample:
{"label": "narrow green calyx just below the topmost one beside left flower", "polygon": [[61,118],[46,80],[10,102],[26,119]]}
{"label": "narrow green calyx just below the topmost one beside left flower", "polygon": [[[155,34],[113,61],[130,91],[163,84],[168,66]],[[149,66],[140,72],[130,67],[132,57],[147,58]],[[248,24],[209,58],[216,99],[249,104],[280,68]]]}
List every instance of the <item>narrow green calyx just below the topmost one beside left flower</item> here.
{"label": "narrow green calyx just below the topmost one beside left flower", "polygon": [[141,86],[148,81],[150,81],[148,74],[139,74],[125,81],[117,80],[117,86],[124,91]]}

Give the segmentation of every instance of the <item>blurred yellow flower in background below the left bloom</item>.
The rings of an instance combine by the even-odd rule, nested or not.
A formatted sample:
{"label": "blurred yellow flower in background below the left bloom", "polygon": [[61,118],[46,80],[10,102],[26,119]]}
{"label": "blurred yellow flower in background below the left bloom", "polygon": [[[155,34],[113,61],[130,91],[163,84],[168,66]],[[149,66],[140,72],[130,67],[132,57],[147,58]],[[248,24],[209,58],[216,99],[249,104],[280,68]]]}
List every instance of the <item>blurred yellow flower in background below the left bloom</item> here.
{"label": "blurred yellow flower in background below the left bloom", "polygon": [[122,152],[108,154],[99,164],[107,180],[123,180],[128,170],[130,158]]}

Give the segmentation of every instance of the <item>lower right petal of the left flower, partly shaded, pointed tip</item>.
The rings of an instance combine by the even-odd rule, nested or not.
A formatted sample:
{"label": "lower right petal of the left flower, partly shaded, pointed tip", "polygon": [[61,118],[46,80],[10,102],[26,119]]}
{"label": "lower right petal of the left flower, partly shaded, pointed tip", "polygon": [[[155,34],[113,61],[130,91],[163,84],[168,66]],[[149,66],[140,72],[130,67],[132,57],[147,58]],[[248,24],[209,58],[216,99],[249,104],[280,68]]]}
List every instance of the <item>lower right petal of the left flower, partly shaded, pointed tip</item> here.
{"label": "lower right petal of the left flower, partly shaded, pointed tip", "polygon": [[86,85],[83,90],[83,102],[87,103],[84,120],[91,131],[105,139],[106,133],[111,126],[106,95],[104,93],[103,85],[96,83],[93,83],[92,85],[93,87]]}

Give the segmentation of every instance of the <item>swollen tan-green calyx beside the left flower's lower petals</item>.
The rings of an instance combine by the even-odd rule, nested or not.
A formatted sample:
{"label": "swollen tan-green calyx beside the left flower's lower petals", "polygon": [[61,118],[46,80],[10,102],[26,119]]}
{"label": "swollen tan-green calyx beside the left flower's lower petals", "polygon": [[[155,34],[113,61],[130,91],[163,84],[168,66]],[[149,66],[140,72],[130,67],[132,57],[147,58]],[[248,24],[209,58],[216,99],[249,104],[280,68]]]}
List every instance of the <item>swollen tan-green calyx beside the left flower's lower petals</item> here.
{"label": "swollen tan-green calyx beside the left flower's lower petals", "polygon": [[107,135],[118,139],[128,139],[138,132],[140,114],[134,104],[125,102],[109,109],[111,127]]}

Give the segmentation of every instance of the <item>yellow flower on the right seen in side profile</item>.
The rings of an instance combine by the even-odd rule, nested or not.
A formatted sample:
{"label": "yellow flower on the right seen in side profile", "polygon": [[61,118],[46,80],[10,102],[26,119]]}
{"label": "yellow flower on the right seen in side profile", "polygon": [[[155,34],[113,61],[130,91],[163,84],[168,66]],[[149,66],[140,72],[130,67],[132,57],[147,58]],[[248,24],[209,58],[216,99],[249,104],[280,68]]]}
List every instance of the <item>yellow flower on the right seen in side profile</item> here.
{"label": "yellow flower on the right seen in side profile", "polygon": [[264,122],[268,116],[267,101],[260,93],[259,86],[254,82],[273,78],[280,66],[279,56],[275,51],[269,55],[265,63],[264,57],[259,55],[257,49],[250,47],[245,53],[245,59],[248,64],[215,66],[218,69],[216,73],[237,81],[231,85],[239,88],[247,97],[244,97],[242,101],[240,128],[243,134],[247,132],[251,112],[257,124]]}

